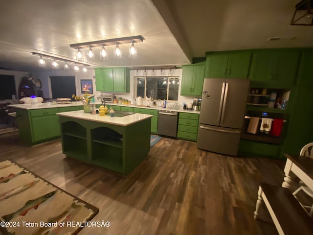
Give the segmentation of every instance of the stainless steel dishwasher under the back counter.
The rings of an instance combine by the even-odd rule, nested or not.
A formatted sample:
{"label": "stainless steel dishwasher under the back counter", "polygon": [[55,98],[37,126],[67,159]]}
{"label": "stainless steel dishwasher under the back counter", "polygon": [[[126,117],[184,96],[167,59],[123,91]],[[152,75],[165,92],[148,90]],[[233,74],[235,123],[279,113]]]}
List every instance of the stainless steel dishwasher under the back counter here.
{"label": "stainless steel dishwasher under the back counter", "polygon": [[176,137],[178,112],[170,110],[158,111],[157,134]]}

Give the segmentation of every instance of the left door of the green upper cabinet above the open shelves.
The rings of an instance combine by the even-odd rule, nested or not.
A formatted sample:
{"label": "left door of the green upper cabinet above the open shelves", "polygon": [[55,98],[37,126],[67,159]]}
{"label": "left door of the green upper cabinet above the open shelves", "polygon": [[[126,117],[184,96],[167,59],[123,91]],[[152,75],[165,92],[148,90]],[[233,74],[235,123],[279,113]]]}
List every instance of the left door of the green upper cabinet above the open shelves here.
{"label": "left door of the green upper cabinet above the open shelves", "polygon": [[273,78],[274,53],[271,51],[256,51],[252,56],[250,79],[255,82],[268,82]]}

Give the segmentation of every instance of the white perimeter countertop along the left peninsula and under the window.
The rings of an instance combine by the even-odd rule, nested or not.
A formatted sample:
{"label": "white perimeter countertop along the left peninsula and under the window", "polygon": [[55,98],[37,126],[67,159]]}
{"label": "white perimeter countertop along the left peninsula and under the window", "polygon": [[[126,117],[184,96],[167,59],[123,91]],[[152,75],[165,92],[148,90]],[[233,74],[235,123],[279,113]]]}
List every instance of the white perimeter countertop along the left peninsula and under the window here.
{"label": "white perimeter countertop along the left peninsula and under the window", "polygon": [[[95,104],[101,104],[101,102],[95,102]],[[18,108],[18,109],[48,109],[48,108],[61,108],[61,107],[72,107],[72,106],[82,106],[82,101],[73,101],[70,104],[49,104],[49,103],[39,103],[37,105],[31,104],[10,104],[9,107]],[[200,111],[193,111],[193,110],[184,110],[184,109],[169,109],[169,108],[162,108],[159,106],[154,107],[140,107],[136,105],[123,105],[123,104],[113,104],[113,103],[106,103],[106,105],[116,105],[116,106],[125,106],[125,107],[132,107],[132,108],[142,108],[142,109],[155,109],[155,110],[171,110],[181,113],[191,113],[191,114],[200,114]]]}

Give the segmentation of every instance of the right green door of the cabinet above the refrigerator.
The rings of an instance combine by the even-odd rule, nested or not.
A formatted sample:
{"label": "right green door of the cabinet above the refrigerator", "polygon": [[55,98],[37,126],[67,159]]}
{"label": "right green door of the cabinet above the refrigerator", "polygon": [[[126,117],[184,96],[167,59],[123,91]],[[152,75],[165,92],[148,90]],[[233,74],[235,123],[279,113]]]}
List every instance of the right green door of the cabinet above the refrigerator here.
{"label": "right green door of the cabinet above the refrigerator", "polygon": [[250,52],[229,53],[226,78],[247,78],[250,58]]}

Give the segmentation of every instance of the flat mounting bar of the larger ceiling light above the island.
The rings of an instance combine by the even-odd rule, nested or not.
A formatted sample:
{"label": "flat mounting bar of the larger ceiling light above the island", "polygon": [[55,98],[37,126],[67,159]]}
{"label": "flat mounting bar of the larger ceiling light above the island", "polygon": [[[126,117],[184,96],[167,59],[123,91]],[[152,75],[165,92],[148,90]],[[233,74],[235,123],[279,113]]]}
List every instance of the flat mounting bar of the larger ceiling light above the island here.
{"label": "flat mounting bar of the larger ceiling light above the island", "polygon": [[131,41],[134,41],[134,43],[142,43],[145,38],[141,35],[137,36],[131,36],[131,37],[124,37],[124,38],[113,38],[113,39],[106,39],[106,40],[99,40],[99,41],[93,41],[93,42],[86,42],[86,43],[76,43],[76,44],[70,44],[69,47],[73,48],[89,48],[91,47],[102,47],[103,44],[105,46],[115,46],[116,43],[120,44],[130,44]]}

